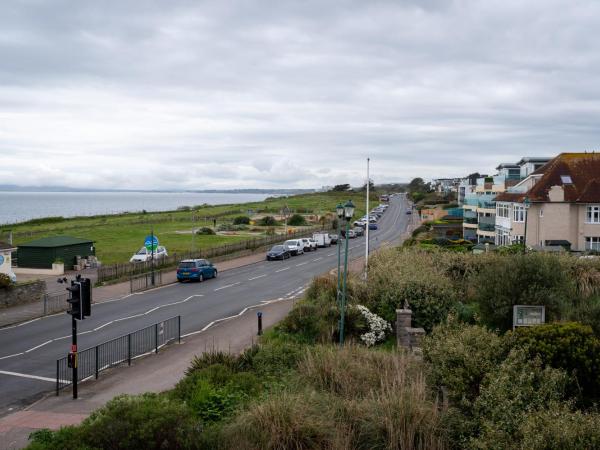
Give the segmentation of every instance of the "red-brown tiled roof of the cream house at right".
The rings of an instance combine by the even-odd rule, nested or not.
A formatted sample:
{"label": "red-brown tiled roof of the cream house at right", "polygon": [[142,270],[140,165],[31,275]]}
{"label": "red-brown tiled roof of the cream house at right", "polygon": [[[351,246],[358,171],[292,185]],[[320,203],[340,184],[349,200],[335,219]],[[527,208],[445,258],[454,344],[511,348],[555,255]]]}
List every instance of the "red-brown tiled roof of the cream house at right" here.
{"label": "red-brown tiled roof of the cream house at right", "polygon": [[[552,186],[562,186],[565,201],[572,203],[600,203],[600,153],[561,153],[534,173],[543,173],[527,192],[503,192],[496,201],[521,202],[525,196],[532,202],[548,202]],[[572,183],[564,183],[569,176]]]}

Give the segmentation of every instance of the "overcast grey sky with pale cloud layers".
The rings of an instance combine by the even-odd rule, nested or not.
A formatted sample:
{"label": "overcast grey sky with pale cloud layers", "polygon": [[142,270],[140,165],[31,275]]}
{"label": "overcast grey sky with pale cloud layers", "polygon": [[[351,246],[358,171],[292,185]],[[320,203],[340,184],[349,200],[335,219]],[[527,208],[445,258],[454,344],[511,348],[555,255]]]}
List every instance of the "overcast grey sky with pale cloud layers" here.
{"label": "overcast grey sky with pale cloud layers", "polygon": [[318,188],[599,149],[600,2],[0,2],[0,184]]}

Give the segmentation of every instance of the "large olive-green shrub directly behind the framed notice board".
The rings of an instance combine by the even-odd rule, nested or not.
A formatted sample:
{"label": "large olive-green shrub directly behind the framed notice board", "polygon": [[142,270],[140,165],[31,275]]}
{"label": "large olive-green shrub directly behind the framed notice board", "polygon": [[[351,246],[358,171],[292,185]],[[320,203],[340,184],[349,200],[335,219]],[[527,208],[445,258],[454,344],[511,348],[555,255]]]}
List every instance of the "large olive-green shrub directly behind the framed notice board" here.
{"label": "large olive-green shrub directly behind the framed notice board", "polygon": [[561,318],[575,297],[575,285],[560,258],[530,253],[488,259],[474,279],[482,320],[501,330],[512,328],[513,305],[545,305],[546,318]]}

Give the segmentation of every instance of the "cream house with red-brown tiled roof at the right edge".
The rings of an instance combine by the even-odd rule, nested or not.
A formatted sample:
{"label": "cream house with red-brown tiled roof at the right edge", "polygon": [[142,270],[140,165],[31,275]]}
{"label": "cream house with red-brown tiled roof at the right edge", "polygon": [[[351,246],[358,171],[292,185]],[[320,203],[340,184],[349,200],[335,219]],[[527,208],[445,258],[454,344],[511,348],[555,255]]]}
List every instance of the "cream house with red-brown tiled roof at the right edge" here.
{"label": "cream house with red-brown tiled roof at the right edge", "polygon": [[600,250],[600,153],[562,153],[528,173],[496,197],[496,244]]}

